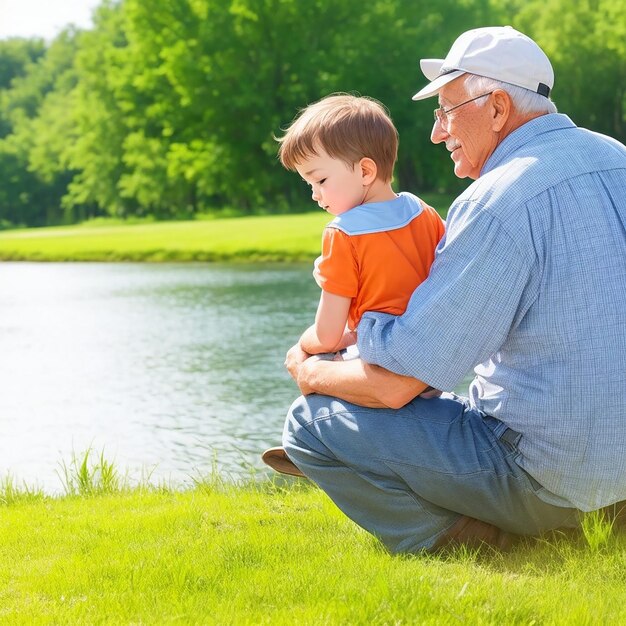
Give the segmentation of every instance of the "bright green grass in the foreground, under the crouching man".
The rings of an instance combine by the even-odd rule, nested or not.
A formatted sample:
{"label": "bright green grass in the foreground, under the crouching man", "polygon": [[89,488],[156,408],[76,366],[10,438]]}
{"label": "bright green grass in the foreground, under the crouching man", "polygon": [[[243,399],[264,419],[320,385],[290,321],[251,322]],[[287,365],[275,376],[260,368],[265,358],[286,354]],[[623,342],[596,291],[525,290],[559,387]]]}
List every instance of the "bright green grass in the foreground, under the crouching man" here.
{"label": "bright green grass in the foreground, under the crouching man", "polygon": [[391,556],[306,481],[130,488],[87,456],[64,496],[0,486],[1,623],[626,622],[626,535],[597,515],[508,554]]}

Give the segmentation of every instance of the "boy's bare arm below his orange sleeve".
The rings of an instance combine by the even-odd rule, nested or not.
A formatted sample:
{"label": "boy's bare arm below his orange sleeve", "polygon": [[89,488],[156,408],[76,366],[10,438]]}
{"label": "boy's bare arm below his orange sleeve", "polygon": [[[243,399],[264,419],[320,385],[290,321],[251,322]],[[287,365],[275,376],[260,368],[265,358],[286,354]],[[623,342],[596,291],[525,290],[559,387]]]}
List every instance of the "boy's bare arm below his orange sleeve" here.
{"label": "boy's bare arm below his orange sleeve", "polygon": [[343,338],[352,298],[337,296],[322,290],[315,315],[315,324],[300,337],[300,346],[309,354],[335,352]]}

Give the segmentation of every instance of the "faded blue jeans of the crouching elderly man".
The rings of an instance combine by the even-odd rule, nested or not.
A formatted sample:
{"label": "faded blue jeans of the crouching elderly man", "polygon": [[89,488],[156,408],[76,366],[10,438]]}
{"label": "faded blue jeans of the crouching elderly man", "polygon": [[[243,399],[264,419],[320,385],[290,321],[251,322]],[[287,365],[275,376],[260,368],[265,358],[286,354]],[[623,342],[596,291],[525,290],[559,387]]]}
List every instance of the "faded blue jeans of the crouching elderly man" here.
{"label": "faded blue jeans of the crouching elderly man", "polygon": [[462,515],[520,535],[578,525],[576,509],[538,497],[518,440],[451,394],[399,410],[300,397],[283,433],[294,463],[391,552],[431,548]]}

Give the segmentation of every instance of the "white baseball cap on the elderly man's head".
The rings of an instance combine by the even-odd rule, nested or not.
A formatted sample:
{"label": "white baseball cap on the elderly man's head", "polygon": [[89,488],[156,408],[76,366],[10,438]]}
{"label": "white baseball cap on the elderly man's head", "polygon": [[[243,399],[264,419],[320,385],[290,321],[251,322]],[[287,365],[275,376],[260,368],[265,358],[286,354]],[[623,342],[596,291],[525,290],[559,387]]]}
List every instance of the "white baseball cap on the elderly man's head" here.
{"label": "white baseball cap on the elderly man's head", "polygon": [[554,85],[554,71],[544,51],[510,26],[468,30],[452,44],[445,59],[422,59],[420,68],[431,82],[413,100],[434,96],[466,73],[524,87],[546,98]]}

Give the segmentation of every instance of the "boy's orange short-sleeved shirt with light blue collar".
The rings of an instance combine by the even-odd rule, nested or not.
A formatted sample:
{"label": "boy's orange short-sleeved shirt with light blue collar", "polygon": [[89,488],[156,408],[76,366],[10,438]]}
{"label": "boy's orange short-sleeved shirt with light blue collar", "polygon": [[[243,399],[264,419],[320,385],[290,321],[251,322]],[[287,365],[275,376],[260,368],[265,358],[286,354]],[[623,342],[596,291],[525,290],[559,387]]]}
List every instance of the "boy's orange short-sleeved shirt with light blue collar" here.
{"label": "boy's orange short-sleeved shirt with light blue collar", "polygon": [[[399,215],[394,208],[401,209]],[[404,313],[428,276],[444,233],[437,212],[409,193],[357,209],[354,219],[344,218],[355,211],[351,209],[324,229],[322,255],[313,272],[324,291],[352,298],[350,330],[365,311]]]}

